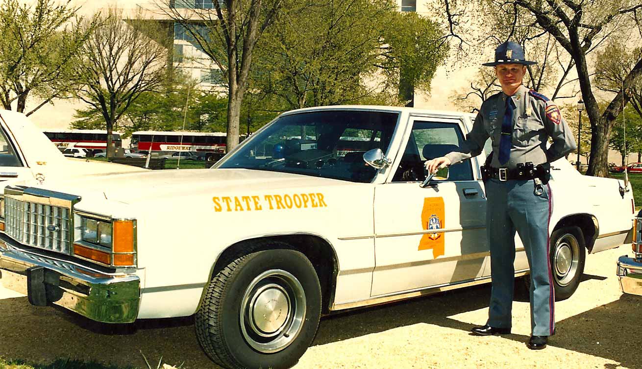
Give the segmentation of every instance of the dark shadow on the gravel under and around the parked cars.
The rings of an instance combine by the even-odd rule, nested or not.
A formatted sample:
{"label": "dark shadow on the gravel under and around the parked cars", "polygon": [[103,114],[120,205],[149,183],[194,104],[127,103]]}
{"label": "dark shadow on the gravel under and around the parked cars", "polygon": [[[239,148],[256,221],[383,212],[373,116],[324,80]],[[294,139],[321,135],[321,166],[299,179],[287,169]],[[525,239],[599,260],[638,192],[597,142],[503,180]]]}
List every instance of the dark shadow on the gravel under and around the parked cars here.
{"label": "dark shadow on the gravel under and around the parked cars", "polygon": [[[487,307],[489,294],[490,287],[484,285],[327,316],[321,321],[313,346],[416,323],[469,331],[471,324],[448,316]],[[562,320],[550,345],[641,368],[639,357],[632,355],[641,343],[634,330],[641,304],[642,298],[622,296]],[[0,300],[0,357],[24,361],[38,369],[65,368],[51,364],[65,357],[76,363],[69,366],[73,369],[92,362],[100,366],[91,368],[99,369],[147,368],[142,352],[154,368],[160,357],[169,365],[183,363],[182,368],[218,368],[198,345],[192,324],[192,318],[180,318],[102,325],[63,309],[33,307],[26,298],[11,298]],[[521,342],[528,339],[517,334],[505,338]]]}

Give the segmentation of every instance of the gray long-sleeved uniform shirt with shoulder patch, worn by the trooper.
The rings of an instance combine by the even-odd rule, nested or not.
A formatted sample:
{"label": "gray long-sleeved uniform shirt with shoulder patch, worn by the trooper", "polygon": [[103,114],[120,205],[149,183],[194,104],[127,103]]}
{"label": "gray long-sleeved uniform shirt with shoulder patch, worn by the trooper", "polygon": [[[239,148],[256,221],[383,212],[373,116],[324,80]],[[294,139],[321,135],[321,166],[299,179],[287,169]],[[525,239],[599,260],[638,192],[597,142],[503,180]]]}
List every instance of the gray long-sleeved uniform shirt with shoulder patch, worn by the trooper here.
{"label": "gray long-sleeved uniform shirt with shoulder patch, worn by the trooper", "polygon": [[[506,111],[506,99],[515,103],[513,110],[512,146],[506,164],[499,164],[499,139],[501,123]],[[516,94],[507,96],[499,92],[482,103],[482,108],[473,123],[473,129],[460,146],[459,151],[447,153],[451,165],[480,155],[486,140],[492,141],[492,167],[514,169],[517,163],[532,162],[535,166],[553,162],[577,149],[571,130],[562,118],[559,109],[546,96],[529,90],[523,85]],[[553,140],[546,148],[548,138]]]}

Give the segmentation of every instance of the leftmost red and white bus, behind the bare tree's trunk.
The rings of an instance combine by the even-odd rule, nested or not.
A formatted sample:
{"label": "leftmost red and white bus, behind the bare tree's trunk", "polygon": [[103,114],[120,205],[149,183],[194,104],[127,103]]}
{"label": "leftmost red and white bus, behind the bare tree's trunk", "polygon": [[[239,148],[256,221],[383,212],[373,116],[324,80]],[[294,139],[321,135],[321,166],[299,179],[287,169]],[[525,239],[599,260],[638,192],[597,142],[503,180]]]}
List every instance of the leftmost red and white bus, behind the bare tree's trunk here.
{"label": "leftmost red and white bus, behind the bare tree's trunk", "polygon": [[[49,137],[58,150],[66,148],[83,148],[87,150],[107,150],[107,130],[46,130],[43,133]],[[120,133],[112,133],[114,149],[121,148],[123,142]]]}

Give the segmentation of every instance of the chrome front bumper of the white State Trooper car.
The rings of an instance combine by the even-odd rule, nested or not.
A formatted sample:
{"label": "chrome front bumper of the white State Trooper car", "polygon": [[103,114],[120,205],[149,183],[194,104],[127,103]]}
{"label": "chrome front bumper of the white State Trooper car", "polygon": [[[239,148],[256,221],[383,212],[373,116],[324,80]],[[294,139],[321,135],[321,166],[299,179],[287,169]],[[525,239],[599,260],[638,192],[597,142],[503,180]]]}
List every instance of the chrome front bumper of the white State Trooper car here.
{"label": "chrome front bumper of the white State Trooper car", "polygon": [[104,323],[138,316],[140,278],[103,273],[32,251],[0,234],[0,284],[27,295],[33,305],[56,304]]}

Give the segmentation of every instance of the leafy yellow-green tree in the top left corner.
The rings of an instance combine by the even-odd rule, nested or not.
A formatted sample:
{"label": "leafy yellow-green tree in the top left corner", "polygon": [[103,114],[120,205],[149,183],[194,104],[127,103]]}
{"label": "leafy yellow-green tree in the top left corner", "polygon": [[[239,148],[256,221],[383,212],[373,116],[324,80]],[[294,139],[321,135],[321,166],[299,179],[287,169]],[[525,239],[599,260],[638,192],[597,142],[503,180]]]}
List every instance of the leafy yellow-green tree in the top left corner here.
{"label": "leafy yellow-green tree in the top left corner", "polygon": [[37,98],[26,112],[30,116],[53,99],[70,96],[77,56],[95,26],[87,21],[81,27],[83,18],[70,3],[0,4],[0,102],[5,109],[15,103],[18,112],[25,112],[27,99]]}

